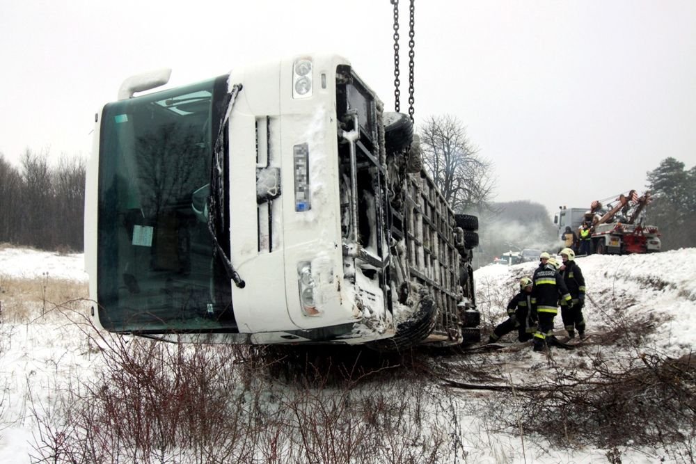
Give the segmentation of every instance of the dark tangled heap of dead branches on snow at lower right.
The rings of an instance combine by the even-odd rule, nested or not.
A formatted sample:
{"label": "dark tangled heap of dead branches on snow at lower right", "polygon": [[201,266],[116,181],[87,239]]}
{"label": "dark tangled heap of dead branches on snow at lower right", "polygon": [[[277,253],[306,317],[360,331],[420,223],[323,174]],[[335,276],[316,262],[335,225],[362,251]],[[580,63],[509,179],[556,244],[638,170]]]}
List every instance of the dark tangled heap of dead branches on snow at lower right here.
{"label": "dark tangled heap of dead branches on snow at lower right", "polygon": [[696,436],[696,358],[677,360],[641,354],[622,369],[597,356],[592,369],[557,369],[535,390],[518,391],[517,403],[498,397],[493,413],[514,431],[519,411],[525,433],[539,433],[553,445],[601,448],[677,447]]}

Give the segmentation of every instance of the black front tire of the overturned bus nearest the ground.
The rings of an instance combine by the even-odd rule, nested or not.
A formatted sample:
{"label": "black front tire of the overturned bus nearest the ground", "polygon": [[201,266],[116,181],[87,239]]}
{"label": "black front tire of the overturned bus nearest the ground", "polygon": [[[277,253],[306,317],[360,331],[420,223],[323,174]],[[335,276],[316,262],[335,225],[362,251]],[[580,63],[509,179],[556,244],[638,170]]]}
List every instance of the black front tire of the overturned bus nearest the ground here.
{"label": "black front tire of the overturned bus nearest the ground", "polygon": [[416,314],[413,314],[411,319],[400,323],[393,337],[369,342],[367,346],[375,351],[393,353],[411,349],[422,342],[435,328],[438,310],[429,290],[422,294],[417,304]]}

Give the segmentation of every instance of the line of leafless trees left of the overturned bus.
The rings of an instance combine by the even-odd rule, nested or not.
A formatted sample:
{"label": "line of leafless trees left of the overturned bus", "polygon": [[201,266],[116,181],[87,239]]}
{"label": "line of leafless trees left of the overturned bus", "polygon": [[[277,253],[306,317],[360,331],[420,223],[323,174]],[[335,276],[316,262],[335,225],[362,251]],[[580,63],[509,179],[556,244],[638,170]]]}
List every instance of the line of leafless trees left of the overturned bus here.
{"label": "line of leafless trees left of the overturned bus", "polygon": [[27,149],[14,166],[0,153],[0,242],[83,249],[86,161]]}

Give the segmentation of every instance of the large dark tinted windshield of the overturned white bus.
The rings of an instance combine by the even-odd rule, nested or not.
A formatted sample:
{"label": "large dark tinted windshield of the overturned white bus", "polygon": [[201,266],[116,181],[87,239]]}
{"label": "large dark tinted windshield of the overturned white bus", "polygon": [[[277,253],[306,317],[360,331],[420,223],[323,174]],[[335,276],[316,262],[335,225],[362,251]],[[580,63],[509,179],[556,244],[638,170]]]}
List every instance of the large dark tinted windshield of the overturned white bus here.
{"label": "large dark tinted windshield of the overturned white bus", "polygon": [[116,332],[236,332],[207,224],[227,76],[107,104],[99,147],[97,299]]}

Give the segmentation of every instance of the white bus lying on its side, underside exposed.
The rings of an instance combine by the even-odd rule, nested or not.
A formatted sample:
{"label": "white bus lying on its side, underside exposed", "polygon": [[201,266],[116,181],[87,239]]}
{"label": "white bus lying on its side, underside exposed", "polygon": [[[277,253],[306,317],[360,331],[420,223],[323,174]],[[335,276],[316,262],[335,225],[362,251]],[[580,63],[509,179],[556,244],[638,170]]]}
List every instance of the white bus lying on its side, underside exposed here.
{"label": "white bus lying on its side, underside exposed", "polygon": [[348,61],[299,56],[96,115],[85,208],[95,323],[223,343],[375,349],[479,338],[475,216],[420,166],[407,115]]}

